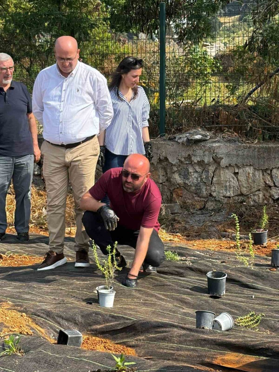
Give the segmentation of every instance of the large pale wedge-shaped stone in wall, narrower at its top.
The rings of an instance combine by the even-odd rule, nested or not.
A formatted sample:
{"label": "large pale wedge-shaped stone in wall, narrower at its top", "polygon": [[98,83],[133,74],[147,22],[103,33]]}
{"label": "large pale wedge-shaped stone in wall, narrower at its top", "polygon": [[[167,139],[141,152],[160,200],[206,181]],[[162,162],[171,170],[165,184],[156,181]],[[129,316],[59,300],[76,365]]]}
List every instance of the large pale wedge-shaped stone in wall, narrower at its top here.
{"label": "large pale wedge-shaped stone in wall, narrower at its top", "polygon": [[232,197],[240,194],[237,177],[234,175],[234,167],[219,167],[215,170],[211,185],[211,194],[217,200],[220,197]]}

